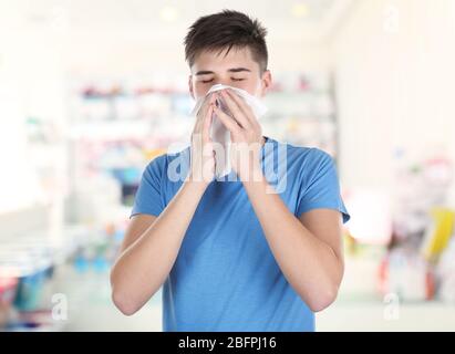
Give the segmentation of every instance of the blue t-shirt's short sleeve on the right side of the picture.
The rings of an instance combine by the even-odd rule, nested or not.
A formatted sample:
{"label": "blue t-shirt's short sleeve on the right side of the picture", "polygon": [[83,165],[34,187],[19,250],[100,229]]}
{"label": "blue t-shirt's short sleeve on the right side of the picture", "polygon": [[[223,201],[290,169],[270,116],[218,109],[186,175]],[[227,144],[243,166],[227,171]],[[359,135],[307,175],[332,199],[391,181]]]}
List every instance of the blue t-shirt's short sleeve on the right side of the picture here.
{"label": "blue t-shirt's short sleeve on the right side of the picture", "polygon": [[311,209],[335,209],[342,214],[343,223],[349,215],[340,194],[340,183],[333,158],[325,152],[312,148],[313,159],[302,170],[297,216]]}

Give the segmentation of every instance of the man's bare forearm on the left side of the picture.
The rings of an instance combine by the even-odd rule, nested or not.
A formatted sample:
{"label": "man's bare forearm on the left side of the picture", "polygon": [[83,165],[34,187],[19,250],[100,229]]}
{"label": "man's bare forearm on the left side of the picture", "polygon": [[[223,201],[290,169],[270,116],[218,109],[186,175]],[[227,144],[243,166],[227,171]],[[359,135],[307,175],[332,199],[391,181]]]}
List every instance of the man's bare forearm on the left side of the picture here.
{"label": "man's bare forearm on the left side of the picture", "polygon": [[185,181],[154,223],[117,259],[112,272],[113,296],[132,314],[166,280],[207,185]]}

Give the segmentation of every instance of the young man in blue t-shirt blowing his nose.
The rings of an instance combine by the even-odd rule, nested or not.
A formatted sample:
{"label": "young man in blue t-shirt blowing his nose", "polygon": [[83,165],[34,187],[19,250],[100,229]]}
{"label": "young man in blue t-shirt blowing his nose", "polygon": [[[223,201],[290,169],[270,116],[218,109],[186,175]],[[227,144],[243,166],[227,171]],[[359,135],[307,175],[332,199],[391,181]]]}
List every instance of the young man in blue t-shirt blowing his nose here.
{"label": "young man in blue t-shirt blowing his nose", "polygon": [[[237,11],[199,18],[185,39],[192,96],[225,84],[262,97],[271,84],[265,37]],[[214,180],[214,113],[232,146],[247,147],[232,147],[234,181]],[[283,188],[262,165],[278,149]],[[248,158],[251,152],[262,158]],[[186,177],[172,180],[170,166],[189,153]],[[262,136],[246,102],[223,90],[199,111],[192,147],[146,167],[112,269],[113,301],[131,315],[163,285],[164,331],[313,331],[313,313],[334,301],[343,277],[349,218],[332,158]]]}

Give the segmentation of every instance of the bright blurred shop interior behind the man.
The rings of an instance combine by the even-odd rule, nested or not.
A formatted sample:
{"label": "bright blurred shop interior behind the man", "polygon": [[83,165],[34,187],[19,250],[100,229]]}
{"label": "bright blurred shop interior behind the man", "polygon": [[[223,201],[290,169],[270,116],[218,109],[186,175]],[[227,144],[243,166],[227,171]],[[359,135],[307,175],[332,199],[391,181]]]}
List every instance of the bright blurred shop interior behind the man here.
{"label": "bright blurred shop interior behind the man", "polygon": [[318,331],[455,330],[454,0],[0,0],[0,327],[161,331],[108,270],[141,174],[188,138],[183,39],[234,9],[268,29],[263,133],[337,162],[352,219]]}

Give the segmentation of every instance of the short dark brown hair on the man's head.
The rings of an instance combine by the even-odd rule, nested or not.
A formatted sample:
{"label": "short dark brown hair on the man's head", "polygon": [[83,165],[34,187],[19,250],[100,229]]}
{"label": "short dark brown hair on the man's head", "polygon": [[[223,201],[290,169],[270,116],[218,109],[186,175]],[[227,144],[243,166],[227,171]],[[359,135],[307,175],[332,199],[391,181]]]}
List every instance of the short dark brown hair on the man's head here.
{"label": "short dark brown hair on the man's head", "polygon": [[249,48],[252,59],[259,64],[260,73],[267,70],[267,29],[258,20],[234,10],[200,17],[189,28],[185,37],[185,60],[193,66],[203,51],[223,51]]}

